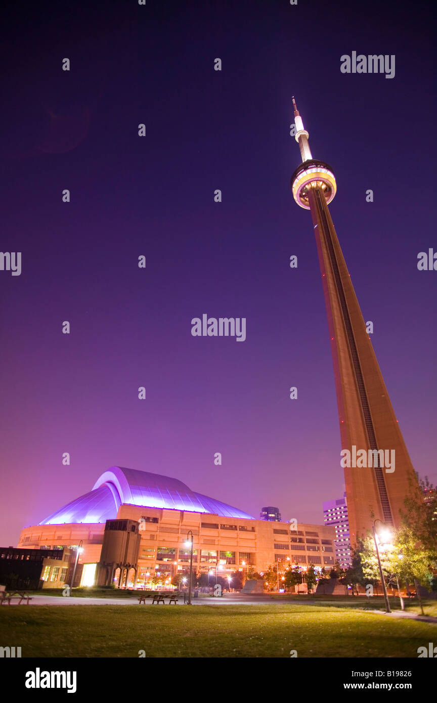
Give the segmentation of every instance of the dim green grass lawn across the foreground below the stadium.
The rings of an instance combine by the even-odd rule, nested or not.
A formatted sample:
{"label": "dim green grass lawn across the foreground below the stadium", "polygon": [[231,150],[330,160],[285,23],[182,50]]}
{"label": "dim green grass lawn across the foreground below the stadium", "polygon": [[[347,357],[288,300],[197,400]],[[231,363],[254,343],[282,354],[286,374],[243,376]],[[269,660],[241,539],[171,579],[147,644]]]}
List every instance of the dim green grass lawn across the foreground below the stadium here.
{"label": "dim green grass lawn across the foreground below the stadium", "polygon": [[312,605],[0,608],[22,657],[412,657],[437,626]]}

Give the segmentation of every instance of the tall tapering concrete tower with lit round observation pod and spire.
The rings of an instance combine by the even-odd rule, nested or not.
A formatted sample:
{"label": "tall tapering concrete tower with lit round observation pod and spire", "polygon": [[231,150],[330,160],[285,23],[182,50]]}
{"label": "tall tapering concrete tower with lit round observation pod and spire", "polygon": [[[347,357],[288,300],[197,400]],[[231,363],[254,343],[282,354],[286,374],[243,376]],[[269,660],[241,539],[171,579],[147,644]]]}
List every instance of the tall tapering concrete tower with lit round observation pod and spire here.
{"label": "tall tapering concrete tower with lit round observation pod and spire", "polygon": [[[292,175],[296,203],[311,210],[327,319],[339,409],[341,449],[351,456],[372,457],[365,465],[344,467],[351,544],[366,536],[372,522],[400,524],[399,510],[417,481],[381,370],[367,334],[363,314],[328,205],[337,192],[332,167],[313,159],[308,131],[293,98],[296,141],[302,163]],[[351,228],[353,225],[351,226]],[[352,231],[349,236],[353,236]],[[393,349],[396,353],[396,349]],[[385,456],[395,459],[387,470]]]}

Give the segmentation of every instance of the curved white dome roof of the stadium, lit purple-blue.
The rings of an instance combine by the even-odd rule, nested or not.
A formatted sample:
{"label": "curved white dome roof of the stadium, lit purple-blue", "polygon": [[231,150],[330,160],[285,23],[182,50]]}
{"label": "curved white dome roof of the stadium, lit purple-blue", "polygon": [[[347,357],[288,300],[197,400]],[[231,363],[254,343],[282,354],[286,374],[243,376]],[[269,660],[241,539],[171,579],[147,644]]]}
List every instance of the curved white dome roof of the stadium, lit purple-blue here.
{"label": "curved white dome roof of the stadium, lit purple-blue", "polygon": [[232,505],[195,493],[178,479],[112,466],[97,479],[92,491],[67,503],[39,524],[113,520],[122,503],[254,520],[252,515]]}

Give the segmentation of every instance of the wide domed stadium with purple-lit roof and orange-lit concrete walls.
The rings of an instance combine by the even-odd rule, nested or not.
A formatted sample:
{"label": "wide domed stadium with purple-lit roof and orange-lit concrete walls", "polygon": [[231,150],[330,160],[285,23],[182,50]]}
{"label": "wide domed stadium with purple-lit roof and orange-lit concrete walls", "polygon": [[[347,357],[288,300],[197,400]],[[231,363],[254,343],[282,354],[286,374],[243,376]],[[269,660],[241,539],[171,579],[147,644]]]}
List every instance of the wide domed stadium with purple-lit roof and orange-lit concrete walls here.
{"label": "wide domed stadium with purple-lit roof and orange-lit concrete walls", "polygon": [[22,529],[18,548],[26,558],[32,549],[50,555],[41,588],[146,589],[169,588],[191,560],[199,578],[215,569],[232,579],[236,569],[261,572],[279,560],[333,565],[334,538],[333,527],[257,520],[179,479],[112,466],[89,493]]}

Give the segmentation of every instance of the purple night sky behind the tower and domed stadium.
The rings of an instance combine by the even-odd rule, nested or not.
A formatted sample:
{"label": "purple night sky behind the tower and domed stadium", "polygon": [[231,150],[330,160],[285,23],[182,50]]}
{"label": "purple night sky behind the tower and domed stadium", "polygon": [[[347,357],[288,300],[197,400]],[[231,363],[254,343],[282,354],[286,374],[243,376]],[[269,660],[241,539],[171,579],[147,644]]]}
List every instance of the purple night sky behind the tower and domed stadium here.
{"label": "purple night sky behind the tower and domed stadium", "polygon": [[[255,517],[277,505],[321,523],[322,501],[341,497],[315,238],[289,185],[293,94],[337,178],[332,218],[413,465],[437,482],[437,273],[417,270],[437,249],[426,13],[376,0],[11,4],[0,249],[22,252],[22,273],[0,271],[2,546],[112,465]],[[342,74],[352,51],[396,55],[396,76]],[[245,317],[246,341],[193,337],[204,313]]]}

